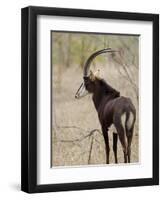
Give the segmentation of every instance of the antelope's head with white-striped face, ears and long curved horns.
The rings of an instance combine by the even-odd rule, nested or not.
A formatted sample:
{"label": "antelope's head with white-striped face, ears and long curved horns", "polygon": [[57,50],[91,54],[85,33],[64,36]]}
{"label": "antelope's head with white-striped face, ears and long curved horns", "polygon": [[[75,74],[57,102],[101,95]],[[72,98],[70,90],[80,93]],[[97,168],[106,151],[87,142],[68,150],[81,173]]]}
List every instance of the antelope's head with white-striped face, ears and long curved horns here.
{"label": "antelope's head with white-striped face, ears and long curved horns", "polygon": [[90,65],[91,65],[93,59],[97,55],[106,53],[106,52],[114,53],[117,51],[112,50],[111,48],[102,49],[100,51],[96,51],[87,59],[85,66],[84,66],[84,71],[83,71],[84,81],[80,85],[79,89],[77,90],[77,92],[75,94],[75,98],[80,99],[80,98],[86,96],[87,94],[94,92],[95,86],[97,85],[99,80],[101,80],[101,76],[100,76],[100,70],[98,69],[95,73],[93,73],[92,70],[90,70]]}

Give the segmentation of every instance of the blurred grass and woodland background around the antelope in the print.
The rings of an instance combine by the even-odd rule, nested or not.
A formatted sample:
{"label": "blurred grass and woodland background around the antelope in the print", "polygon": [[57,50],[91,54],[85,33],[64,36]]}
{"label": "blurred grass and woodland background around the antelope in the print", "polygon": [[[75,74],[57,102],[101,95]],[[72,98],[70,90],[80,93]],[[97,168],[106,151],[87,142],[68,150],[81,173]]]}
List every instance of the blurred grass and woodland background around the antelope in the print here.
{"label": "blurred grass and woodland background around the antelope in the print", "polygon": [[[52,58],[52,166],[105,164],[105,146],[91,95],[80,100],[75,93],[82,83],[83,67],[95,51],[112,48],[115,54],[97,56],[91,69],[122,96],[130,97],[137,110],[131,162],[139,161],[139,36],[75,32],[51,33]],[[114,163],[112,130],[109,131],[110,163]],[[118,141],[118,160],[123,151]]]}

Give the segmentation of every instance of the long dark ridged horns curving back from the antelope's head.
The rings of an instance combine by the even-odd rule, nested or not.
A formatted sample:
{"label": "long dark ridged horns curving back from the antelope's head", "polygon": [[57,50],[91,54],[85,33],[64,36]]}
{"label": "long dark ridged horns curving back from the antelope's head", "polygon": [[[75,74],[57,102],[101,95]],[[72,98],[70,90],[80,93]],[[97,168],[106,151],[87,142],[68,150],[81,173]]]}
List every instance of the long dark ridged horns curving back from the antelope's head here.
{"label": "long dark ridged horns curving back from the antelope's head", "polygon": [[90,68],[90,65],[91,65],[91,62],[93,61],[93,59],[98,56],[99,54],[102,54],[102,53],[107,53],[107,52],[117,52],[116,50],[112,50],[111,48],[107,48],[107,49],[102,49],[102,50],[99,50],[99,51],[96,51],[95,53],[93,53],[92,55],[90,55],[90,57],[87,59],[85,65],[84,65],[84,77],[87,77],[88,76],[88,71],[89,71],[89,68]]}

